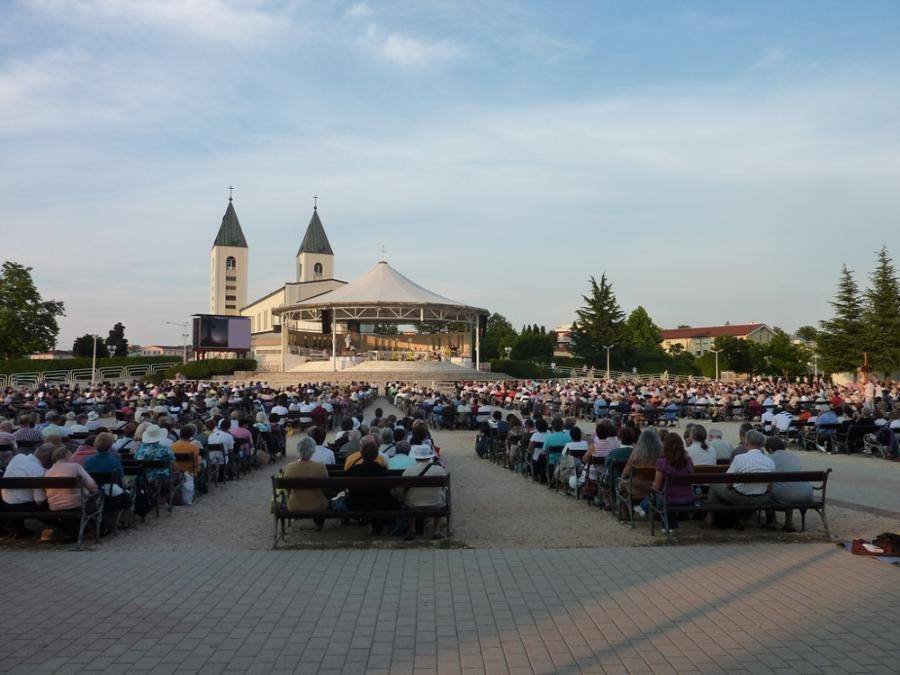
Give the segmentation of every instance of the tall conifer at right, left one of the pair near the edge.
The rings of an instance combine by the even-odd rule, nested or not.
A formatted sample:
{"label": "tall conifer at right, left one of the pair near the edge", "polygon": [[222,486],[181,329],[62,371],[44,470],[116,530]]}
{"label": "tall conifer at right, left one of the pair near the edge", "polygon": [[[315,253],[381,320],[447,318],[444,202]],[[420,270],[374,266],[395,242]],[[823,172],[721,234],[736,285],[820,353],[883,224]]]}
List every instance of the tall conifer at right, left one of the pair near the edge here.
{"label": "tall conifer at right, left one of the pair near the edge", "polygon": [[853,272],[844,265],[837,294],[831,301],[834,316],[820,322],[817,346],[826,372],[854,372],[863,362],[865,331],[863,302]]}

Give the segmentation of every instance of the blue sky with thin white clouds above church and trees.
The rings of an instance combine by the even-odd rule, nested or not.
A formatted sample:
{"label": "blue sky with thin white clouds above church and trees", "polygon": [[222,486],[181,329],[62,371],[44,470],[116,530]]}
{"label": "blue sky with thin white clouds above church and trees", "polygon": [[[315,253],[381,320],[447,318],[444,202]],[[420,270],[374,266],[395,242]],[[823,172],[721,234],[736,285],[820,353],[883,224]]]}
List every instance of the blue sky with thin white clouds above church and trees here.
{"label": "blue sky with thin white clouds above church and trees", "polygon": [[318,194],[340,279],[793,330],[900,258],[898,110],[893,1],[0,0],[0,260],[179,344],[234,185],[251,299]]}

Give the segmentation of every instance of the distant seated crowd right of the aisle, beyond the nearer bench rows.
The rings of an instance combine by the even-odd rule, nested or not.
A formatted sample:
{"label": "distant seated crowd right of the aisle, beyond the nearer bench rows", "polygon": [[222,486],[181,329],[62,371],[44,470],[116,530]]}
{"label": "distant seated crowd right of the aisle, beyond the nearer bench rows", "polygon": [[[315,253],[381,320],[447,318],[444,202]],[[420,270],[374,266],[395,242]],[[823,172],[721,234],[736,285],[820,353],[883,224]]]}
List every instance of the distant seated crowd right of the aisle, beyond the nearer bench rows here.
{"label": "distant seated crowd right of the aisle, beyond the nearer bench rows", "polygon": [[[804,447],[828,452],[834,427],[842,423],[870,427],[871,438],[857,438],[846,452],[879,448],[883,457],[900,455],[900,383],[869,380],[834,385],[822,379],[750,382],[668,381],[662,379],[599,379],[531,382],[480,382],[458,385],[455,391],[425,386],[389,384],[388,395],[408,411],[421,411],[436,424],[476,429],[494,412],[552,418],[609,418],[636,424],[670,425],[681,418],[750,421],[766,433],[799,436]],[[871,444],[865,443],[870,440]]]}

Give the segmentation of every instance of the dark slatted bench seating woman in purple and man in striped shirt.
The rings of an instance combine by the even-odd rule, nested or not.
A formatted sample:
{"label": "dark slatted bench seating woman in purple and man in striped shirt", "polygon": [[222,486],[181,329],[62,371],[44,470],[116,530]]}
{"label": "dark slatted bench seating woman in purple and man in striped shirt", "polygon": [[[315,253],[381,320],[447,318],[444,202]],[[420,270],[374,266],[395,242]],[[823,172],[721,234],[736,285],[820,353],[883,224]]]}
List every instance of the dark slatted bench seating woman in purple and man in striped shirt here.
{"label": "dark slatted bench seating woman in purple and man in striped shirt", "polygon": [[[699,467],[697,467],[699,468]],[[710,467],[711,468],[711,467]],[[712,471],[692,474],[667,476],[663,482],[662,490],[656,491],[650,487],[650,534],[656,533],[656,516],[661,522],[668,522],[668,513],[716,513],[723,511],[788,511],[797,509],[800,511],[800,531],[806,531],[806,512],[812,509],[822,518],[825,527],[825,535],[830,537],[828,520],[825,518],[825,487],[828,483],[826,471],[786,471],[772,473],[715,473]],[[720,501],[711,501],[708,498],[695,501],[692,504],[667,504],[666,491],[670,485],[733,485],[734,483],[812,483],[813,497],[806,502],[779,502],[771,498],[764,504],[726,504]],[[818,485],[816,485],[818,483]],[[664,520],[665,518],[665,520]],[[666,529],[666,542],[670,539],[670,532]]]}

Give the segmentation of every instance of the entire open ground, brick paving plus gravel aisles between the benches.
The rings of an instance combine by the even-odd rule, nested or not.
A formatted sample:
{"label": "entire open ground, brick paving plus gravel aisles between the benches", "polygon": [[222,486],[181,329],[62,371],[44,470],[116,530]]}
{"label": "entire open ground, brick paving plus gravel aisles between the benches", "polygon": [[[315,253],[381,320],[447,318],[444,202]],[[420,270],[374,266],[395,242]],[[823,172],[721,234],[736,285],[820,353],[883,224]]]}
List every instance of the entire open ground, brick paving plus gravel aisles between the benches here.
{"label": "entire open ground, brick paving plus gravel aisles between the benches", "polygon": [[[283,462],[83,552],[7,542],[0,671],[897,672],[900,569],[825,542],[818,516],[658,546],[476,458],[471,432],[435,439],[451,548],[332,522],[269,550]],[[897,530],[897,464],[803,458],[852,500],[829,509],[839,537]]]}

